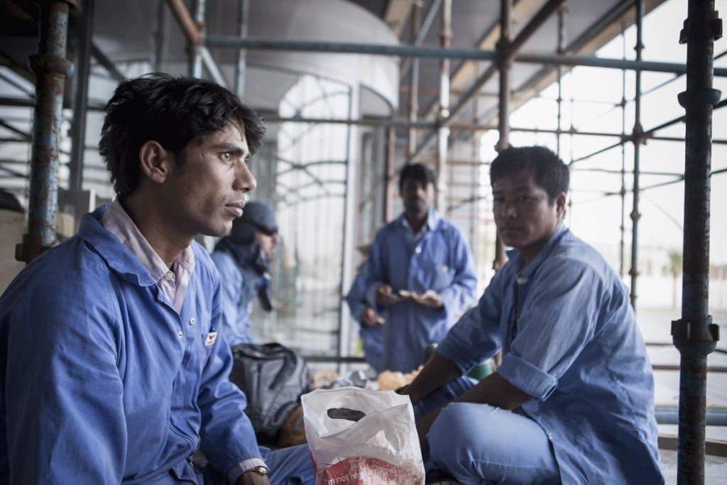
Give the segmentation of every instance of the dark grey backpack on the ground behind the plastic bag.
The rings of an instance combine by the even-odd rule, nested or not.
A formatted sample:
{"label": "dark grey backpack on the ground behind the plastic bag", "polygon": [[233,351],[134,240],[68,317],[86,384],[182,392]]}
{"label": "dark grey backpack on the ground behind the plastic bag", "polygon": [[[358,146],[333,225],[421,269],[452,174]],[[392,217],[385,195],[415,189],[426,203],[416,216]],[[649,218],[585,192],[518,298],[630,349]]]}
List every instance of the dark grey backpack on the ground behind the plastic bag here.
{"label": "dark grey backpack on the ground behind the plastic bag", "polygon": [[302,357],[279,343],[243,343],[232,348],[230,381],[247,397],[245,414],[261,444],[276,442],[281,425],[310,390]]}

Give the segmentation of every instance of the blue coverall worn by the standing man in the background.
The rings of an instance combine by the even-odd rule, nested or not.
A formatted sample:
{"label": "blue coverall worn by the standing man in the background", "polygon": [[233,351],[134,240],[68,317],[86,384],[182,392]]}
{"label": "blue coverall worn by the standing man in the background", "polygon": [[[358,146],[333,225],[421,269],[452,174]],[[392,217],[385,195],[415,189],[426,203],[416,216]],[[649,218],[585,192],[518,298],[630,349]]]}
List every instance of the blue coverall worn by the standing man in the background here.
{"label": "blue coverall worn by the standing man in the background", "polygon": [[411,229],[401,215],[377,233],[369,252],[366,299],[373,308],[383,310],[376,305],[379,284],[390,285],[394,293],[433,289],[443,302],[438,310],[404,301],[386,309],[383,369],[417,369],[424,363],[425,348],[440,342],[475,298],[477,278],[467,241],[435,209],[427,220],[429,229],[412,244]]}

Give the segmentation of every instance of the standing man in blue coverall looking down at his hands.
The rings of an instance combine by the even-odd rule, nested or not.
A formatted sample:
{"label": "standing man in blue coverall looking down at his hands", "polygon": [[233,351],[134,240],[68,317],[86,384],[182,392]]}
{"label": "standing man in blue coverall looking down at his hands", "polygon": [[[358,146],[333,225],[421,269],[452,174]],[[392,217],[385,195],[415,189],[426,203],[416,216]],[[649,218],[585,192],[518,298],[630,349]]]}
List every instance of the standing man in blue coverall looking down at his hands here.
{"label": "standing man in blue coverall looking down at his hands", "polygon": [[399,193],[403,214],[377,233],[369,252],[366,300],[387,313],[382,368],[411,372],[472,302],[477,278],[462,233],[432,207],[432,170],[403,167]]}

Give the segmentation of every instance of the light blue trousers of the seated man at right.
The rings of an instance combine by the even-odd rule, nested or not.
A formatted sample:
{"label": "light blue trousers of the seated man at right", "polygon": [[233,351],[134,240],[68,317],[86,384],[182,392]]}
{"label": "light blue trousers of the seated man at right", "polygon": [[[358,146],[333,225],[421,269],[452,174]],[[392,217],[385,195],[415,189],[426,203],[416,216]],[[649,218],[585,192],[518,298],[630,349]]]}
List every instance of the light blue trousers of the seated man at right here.
{"label": "light blue trousers of the seated man at right", "polygon": [[[450,382],[414,406],[421,417],[470,389],[467,377]],[[439,468],[462,484],[559,484],[561,475],[545,431],[524,413],[489,404],[452,403],[427,434],[425,468]]]}

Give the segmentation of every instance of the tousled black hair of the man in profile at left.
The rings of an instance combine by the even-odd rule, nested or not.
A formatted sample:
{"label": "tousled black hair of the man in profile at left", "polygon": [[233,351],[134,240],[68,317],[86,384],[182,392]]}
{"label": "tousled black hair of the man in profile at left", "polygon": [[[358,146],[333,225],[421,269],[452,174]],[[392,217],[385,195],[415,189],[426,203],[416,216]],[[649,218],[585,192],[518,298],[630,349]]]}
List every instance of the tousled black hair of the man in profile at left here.
{"label": "tousled black hair of the man in profile at left", "polygon": [[151,73],[119,84],[105,108],[99,152],[120,197],[141,180],[139,151],[154,140],[184,162],[188,143],[240,122],[250,153],[265,137],[262,119],[228,89],[204,79]]}

